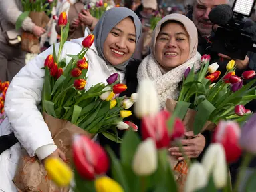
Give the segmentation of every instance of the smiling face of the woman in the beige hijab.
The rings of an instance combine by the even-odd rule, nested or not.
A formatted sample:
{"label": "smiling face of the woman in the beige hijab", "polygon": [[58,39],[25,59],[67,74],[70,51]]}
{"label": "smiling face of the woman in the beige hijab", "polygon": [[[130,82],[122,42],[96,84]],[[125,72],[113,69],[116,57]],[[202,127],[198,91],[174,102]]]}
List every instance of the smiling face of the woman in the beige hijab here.
{"label": "smiling face of the woman in the beige hijab", "polygon": [[170,70],[185,63],[189,57],[189,36],[181,23],[167,23],[156,39],[156,61]]}

